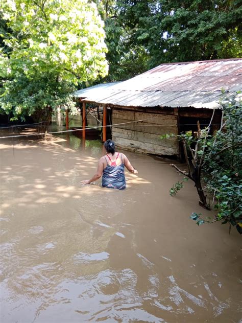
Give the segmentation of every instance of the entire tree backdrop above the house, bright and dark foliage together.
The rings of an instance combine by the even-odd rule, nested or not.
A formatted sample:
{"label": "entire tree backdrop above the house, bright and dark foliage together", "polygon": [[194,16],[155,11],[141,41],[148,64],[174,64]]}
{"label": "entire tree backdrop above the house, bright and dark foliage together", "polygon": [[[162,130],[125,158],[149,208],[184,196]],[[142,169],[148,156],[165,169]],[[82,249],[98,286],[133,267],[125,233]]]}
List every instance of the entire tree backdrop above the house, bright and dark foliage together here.
{"label": "entire tree backdrop above the house, bright and dark foliage together", "polygon": [[2,0],[1,6],[0,113],[12,120],[48,120],[57,107],[74,113],[77,87],[125,80],[160,63],[241,56],[238,0]]}

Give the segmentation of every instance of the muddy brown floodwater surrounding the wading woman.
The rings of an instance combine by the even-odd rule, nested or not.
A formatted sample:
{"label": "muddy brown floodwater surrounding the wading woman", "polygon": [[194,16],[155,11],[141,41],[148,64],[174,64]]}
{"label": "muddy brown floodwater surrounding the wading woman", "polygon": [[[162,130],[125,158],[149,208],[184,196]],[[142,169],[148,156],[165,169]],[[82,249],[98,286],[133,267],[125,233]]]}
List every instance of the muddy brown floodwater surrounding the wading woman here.
{"label": "muddy brown floodwater surrounding the wading woman", "polygon": [[241,244],[169,161],[125,152],[124,191],[81,186],[99,142],[2,140],[1,322],[240,322]]}

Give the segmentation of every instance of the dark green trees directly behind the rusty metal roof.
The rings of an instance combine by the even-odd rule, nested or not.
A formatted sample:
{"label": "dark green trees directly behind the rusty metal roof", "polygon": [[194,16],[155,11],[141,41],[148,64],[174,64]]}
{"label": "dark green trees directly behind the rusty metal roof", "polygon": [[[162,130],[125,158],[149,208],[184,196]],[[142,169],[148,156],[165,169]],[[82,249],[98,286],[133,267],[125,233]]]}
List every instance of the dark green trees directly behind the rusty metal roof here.
{"label": "dark green trees directly behind the rusty metal roof", "polygon": [[239,0],[100,2],[108,17],[107,59],[113,79],[166,62],[241,57]]}

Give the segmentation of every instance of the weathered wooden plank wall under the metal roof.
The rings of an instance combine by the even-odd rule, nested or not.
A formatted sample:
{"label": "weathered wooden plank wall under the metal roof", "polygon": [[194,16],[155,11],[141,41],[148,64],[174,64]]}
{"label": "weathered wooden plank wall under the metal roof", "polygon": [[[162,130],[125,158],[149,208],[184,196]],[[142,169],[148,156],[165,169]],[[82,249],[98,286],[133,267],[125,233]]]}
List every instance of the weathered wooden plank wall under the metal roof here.
{"label": "weathered wooden plank wall under the metal roof", "polygon": [[118,147],[156,155],[179,155],[177,138],[161,140],[160,135],[178,134],[177,113],[149,113],[113,109],[112,124],[144,120],[112,127],[112,139]]}

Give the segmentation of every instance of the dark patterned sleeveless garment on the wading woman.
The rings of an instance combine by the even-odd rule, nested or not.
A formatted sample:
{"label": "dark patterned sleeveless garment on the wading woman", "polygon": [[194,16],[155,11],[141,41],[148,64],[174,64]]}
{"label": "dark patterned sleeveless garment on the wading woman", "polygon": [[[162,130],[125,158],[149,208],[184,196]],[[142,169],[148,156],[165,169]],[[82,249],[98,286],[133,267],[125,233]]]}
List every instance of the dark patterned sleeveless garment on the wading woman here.
{"label": "dark patterned sleeveless garment on the wading woman", "polygon": [[[106,156],[109,158],[111,165],[108,165],[108,160]],[[102,179],[102,187],[107,187],[110,189],[116,189],[116,190],[124,190],[126,188],[126,181],[125,181],[125,165],[123,163],[123,157],[122,154],[121,160],[122,164],[116,165],[116,159],[119,156],[119,153],[117,154],[117,157],[114,162],[112,162],[111,158],[106,155],[104,156],[107,162],[106,168],[103,170],[103,179]]]}

